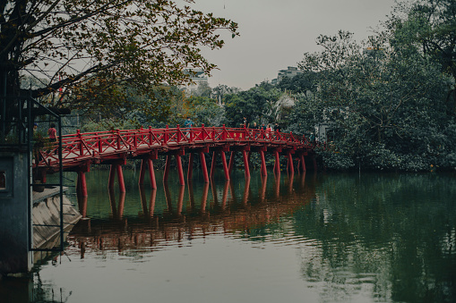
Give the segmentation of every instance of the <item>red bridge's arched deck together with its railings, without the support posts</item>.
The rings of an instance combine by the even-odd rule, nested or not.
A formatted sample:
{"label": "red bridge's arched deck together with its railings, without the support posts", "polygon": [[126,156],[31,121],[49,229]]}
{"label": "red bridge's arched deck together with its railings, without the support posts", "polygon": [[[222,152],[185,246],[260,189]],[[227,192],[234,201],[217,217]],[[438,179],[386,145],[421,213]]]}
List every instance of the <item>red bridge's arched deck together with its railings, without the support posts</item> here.
{"label": "red bridge's arched deck together with its railings, without the support posts", "polygon": [[[194,127],[191,129],[108,130],[61,136],[64,170],[81,165],[110,163],[126,158],[157,155],[184,155],[185,152],[288,150],[312,152],[312,144],[304,136],[277,131],[226,127]],[[39,150],[34,168],[48,172],[59,169],[58,144]],[[39,154],[39,156],[38,156]],[[36,161],[39,159],[39,161]]]}

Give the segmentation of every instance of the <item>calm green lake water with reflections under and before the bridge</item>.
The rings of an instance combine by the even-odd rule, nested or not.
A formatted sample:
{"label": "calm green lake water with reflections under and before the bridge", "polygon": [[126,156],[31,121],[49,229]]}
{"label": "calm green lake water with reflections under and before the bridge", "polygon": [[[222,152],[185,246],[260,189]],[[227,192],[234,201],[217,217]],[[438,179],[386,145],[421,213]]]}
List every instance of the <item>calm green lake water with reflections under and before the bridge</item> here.
{"label": "calm green lake water with reflections under and before the bridge", "polygon": [[90,220],[6,302],[456,301],[455,174],[137,180],[88,173]]}

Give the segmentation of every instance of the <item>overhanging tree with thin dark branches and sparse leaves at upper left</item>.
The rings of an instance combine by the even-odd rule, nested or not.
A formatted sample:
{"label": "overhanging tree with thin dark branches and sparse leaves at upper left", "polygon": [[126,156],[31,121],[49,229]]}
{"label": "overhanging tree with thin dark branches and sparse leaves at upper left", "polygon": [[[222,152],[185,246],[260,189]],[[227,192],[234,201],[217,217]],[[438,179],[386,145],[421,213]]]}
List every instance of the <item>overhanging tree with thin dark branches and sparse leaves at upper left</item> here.
{"label": "overhanging tree with thin dark branches and sparse leaves at upper left", "polygon": [[[116,106],[126,100],[118,89],[125,84],[153,98],[162,84],[188,81],[188,67],[211,72],[200,47],[222,47],[219,29],[238,35],[236,22],[171,0],[4,0],[1,93],[21,95],[26,75],[42,79],[28,94],[53,96],[56,107]],[[4,115],[13,109],[9,103]]]}

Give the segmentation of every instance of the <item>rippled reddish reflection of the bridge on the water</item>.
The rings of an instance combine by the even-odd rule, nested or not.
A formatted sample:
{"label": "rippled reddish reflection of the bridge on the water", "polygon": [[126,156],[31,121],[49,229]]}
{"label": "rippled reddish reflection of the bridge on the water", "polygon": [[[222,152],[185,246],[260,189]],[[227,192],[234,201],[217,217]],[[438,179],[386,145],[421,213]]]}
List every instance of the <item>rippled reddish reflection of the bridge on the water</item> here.
{"label": "rippled reddish reflection of the bridge on the water", "polygon": [[[166,209],[161,212],[156,209],[159,189],[140,187],[142,209],[136,217],[124,215],[125,193],[109,189],[110,220],[87,218],[87,197],[81,197],[79,205],[84,218],[73,228],[68,240],[81,249],[84,257],[88,249],[151,251],[167,246],[168,241],[192,240],[210,233],[245,234],[278,222],[281,215],[292,214],[314,198],[313,188],[305,190],[305,173],[290,174],[281,181],[282,184],[280,177],[275,177],[268,182],[268,177],[262,176],[258,192],[252,192],[250,178],[245,180],[244,188],[241,182],[235,186],[234,181],[200,183],[201,201],[195,198],[192,182],[187,187],[177,187],[173,193],[168,183],[163,183]],[[297,187],[299,190],[295,190]]]}

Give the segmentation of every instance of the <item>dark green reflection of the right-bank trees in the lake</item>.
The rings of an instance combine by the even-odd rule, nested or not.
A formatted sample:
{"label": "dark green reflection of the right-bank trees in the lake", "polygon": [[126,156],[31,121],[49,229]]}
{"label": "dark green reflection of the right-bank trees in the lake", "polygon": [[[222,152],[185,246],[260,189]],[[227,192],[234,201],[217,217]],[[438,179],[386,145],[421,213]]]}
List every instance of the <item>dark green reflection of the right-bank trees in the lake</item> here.
{"label": "dark green reflection of the right-bank trees in the lake", "polygon": [[[305,279],[324,282],[328,300],[369,287],[386,301],[452,301],[456,184],[441,178],[323,177],[314,202],[294,215],[295,231],[312,240],[300,248]],[[314,248],[321,254],[308,257]]]}

